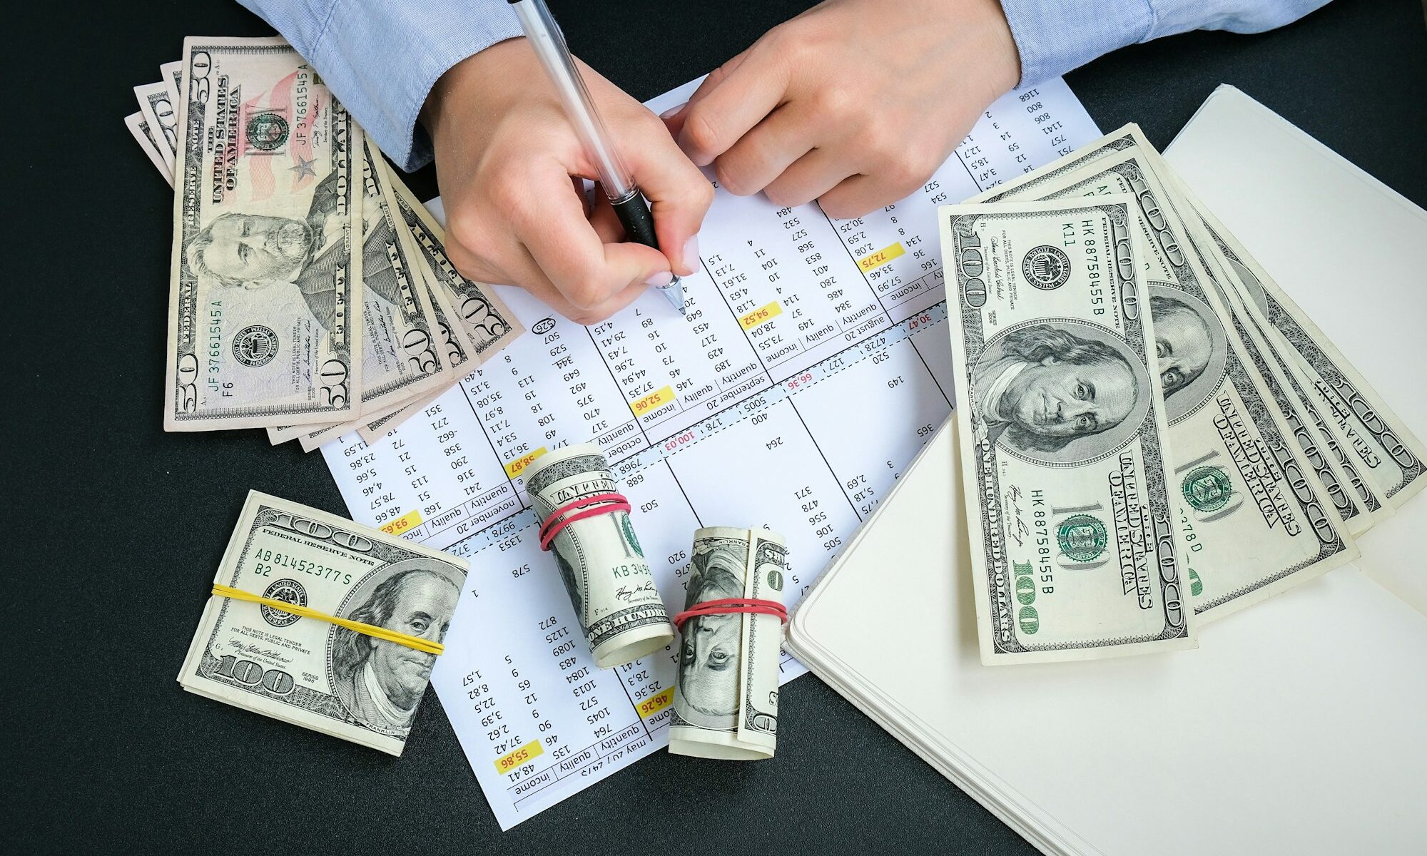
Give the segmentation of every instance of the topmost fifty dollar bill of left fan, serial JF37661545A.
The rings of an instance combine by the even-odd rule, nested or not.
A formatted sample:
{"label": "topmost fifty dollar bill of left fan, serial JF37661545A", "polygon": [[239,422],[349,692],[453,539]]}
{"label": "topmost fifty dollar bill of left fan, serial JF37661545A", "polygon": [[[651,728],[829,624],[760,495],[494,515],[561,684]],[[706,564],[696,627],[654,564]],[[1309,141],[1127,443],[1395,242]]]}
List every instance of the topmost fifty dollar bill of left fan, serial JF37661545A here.
{"label": "topmost fifty dollar bill of left fan, serial JF37661545A", "polygon": [[281,39],[184,56],[164,428],[355,415],[361,128]]}

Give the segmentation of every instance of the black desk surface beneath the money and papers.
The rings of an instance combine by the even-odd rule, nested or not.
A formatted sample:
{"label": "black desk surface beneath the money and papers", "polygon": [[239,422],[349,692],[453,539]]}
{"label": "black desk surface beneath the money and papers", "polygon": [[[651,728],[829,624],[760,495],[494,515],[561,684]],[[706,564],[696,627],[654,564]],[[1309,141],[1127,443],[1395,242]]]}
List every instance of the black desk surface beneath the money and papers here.
{"label": "black desk surface beneath the money and papers", "polygon": [[[552,6],[577,53],[648,98],[806,3]],[[434,692],[400,760],[181,692],[174,675],[247,489],[345,511],[320,455],[270,448],[260,431],[164,434],[160,421],[171,195],[123,127],[130,87],[157,78],[188,33],[270,30],[223,0],[23,9],[7,13],[19,70],[3,161],[11,846],[1032,852],[811,676],[783,692],[775,760],[658,753],[505,835]],[[612,47],[628,33],[648,56]],[[1159,146],[1219,83],[1236,84],[1427,205],[1418,0],[1337,0],[1264,36],[1130,47],[1069,81],[1102,128],[1139,121]],[[414,184],[435,193],[430,170]],[[1370,284],[1353,290],[1361,300]]]}

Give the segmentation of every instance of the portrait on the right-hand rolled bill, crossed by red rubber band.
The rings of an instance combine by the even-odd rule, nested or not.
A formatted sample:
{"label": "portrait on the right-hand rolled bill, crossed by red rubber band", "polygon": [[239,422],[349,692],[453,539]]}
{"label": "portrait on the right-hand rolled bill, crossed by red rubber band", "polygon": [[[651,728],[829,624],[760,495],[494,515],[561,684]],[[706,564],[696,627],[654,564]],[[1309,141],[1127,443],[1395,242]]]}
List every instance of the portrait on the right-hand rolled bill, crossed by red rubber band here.
{"label": "portrait on the right-hand rolled bill, crossed by red rubber band", "polygon": [[[695,555],[685,609],[705,601],[742,598],[746,555],[746,545],[743,555],[731,549]],[[689,723],[714,729],[738,726],[742,628],[739,613],[701,615],[684,623],[675,710]]]}

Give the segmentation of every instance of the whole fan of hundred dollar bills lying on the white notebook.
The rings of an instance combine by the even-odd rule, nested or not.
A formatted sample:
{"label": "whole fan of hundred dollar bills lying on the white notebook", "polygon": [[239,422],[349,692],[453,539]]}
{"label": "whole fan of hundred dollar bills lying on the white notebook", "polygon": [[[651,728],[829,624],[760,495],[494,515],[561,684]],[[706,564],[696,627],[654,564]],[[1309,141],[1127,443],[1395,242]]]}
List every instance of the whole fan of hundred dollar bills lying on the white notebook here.
{"label": "whole fan of hundred dollar bills lying on the white notebook", "polygon": [[982,662],[1194,648],[1427,484],[1139,127],[939,217]]}

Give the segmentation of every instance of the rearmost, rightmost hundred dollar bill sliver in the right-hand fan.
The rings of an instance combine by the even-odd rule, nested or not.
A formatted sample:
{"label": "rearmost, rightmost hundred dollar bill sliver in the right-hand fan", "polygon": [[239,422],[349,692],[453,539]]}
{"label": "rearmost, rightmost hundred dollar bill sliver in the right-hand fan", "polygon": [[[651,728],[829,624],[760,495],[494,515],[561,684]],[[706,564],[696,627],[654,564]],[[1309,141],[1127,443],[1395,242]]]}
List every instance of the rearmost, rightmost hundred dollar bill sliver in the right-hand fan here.
{"label": "rearmost, rightmost hundred dollar bill sliver in the right-hand fan", "polygon": [[1323,415],[1367,488],[1396,509],[1427,485],[1427,445],[1387,407],[1317,324],[1299,308],[1217,217],[1176,183],[1193,217],[1236,274],[1240,301],[1284,354],[1284,362]]}

